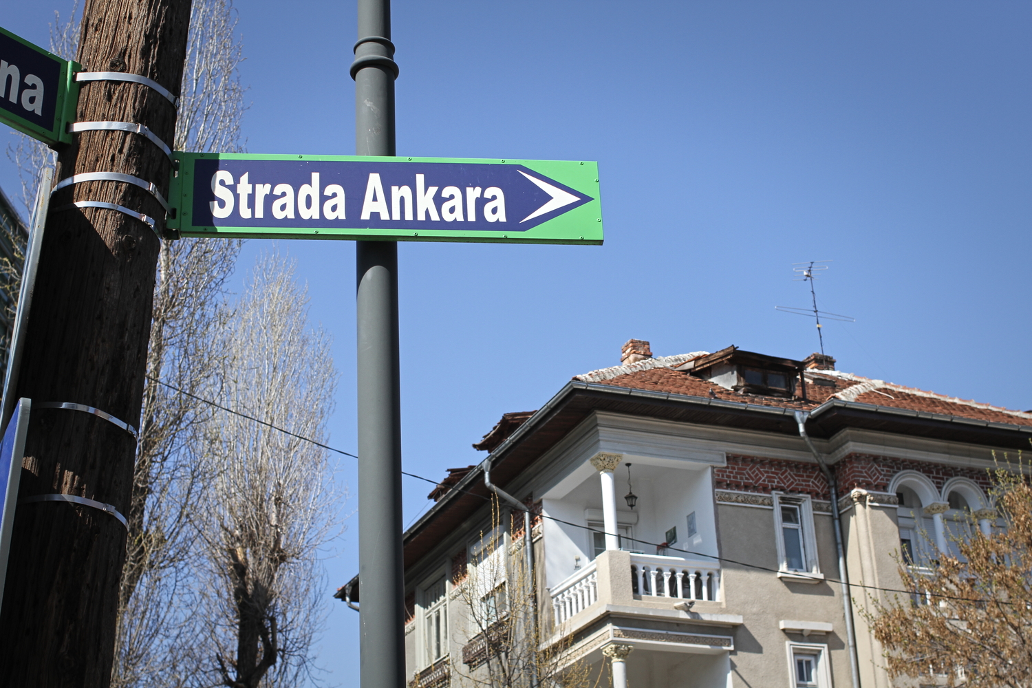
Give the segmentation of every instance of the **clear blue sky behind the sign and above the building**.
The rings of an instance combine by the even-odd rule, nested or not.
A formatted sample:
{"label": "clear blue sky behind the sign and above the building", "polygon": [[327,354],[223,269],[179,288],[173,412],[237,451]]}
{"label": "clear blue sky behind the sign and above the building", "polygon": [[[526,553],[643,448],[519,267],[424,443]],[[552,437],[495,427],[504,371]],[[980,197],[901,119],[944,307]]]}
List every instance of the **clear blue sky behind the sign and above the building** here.
{"label": "clear blue sky behind the sign and above the building", "polygon": [[[56,0],[3,26],[46,43]],[[67,3],[66,3],[67,4]],[[60,7],[64,10],[64,6]],[[354,2],[238,2],[251,153],[354,153]],[[399,155],[598,160],[606,244],[399,248],[405,465],[441,477],[572,375],[729,345],[1032,408],[1032,4],[394,2]],[[13,189],[2,161],[0,185]],[[239,274],[266,248],[250,242]],[[335,337],[355,450],[354,248],[284,241]],[[344,478],[355,485],[354,467]],[[405,482],[409,521],[429,485]],[[354,501],[350,502],[354,509]],[[327,560],[356,570],[357,516]],[[320,661],[357,684],[357,615]]]}

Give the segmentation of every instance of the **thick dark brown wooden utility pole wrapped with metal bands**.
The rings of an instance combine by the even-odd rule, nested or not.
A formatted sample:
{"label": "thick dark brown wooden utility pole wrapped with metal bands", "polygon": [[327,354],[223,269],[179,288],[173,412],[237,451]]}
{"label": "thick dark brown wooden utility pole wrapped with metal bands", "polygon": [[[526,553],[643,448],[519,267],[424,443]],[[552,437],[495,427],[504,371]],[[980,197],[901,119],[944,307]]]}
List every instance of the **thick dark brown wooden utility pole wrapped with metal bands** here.
{"label": "thick dark brown wooden utility pole wrapped with metal bands", "polygon": [[[138,74],[179,92],[189,0],[87,0],[78,62],[88,72]],[[175,108],[158,91],[119,80],[86,81],[78,122],[141,124],[172,144]],[[167,195],[168,156],[144,135],[85,131],[60,152],[56,178],[121,172]],[[55,193],[15,397],[33,413],[22,469],[10,563],[0,616],[0,686],[83,686],[110,682],[119,578],[126,528],[110,513],[66,494],[129,509],[135,439],[93,414],[40,408],[72,402],[138,425],[159,239],[116,203],[164,229],[148,191],[123,182],[85,182]]]}

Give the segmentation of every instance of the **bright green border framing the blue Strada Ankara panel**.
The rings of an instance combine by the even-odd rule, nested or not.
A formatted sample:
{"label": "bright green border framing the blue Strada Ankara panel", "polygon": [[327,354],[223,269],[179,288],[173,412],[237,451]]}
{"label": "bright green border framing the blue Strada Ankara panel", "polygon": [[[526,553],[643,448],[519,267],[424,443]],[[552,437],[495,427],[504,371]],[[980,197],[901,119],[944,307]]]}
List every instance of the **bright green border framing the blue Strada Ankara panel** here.
{"label": "bright green border framing the blue Strada Ankara panel", "polygon": [[[602,201],[599,191],[599,163],[588,161],[557,160],[499,160],[479,158],[384,158],[375,156],[296,156],[296,155],[255,155],[244,153],[181,153],[172,158],[179,163],[179,173],[172,177],[168,189],[168,202],[176,209],[174,216],[165,223],[170,230],[178,230],[180,236],[265,239],[344,239],[381,241],[460,241],[473,243],[571,243],[602,245],[603,222]],[[340,229],[320,227],[319,229],[280,227],[203,227],[190,224],[193,207],[194,163],[200,159],[219,160],[313,160],[318,162],[414,162],[414,163],[479,163],[523,165],[545,176],[551,177],[571,189],[590,196],[593,200],[584,203],[553,220],[522,232],[504,234],[489,231],[461,231],[427,229],[404,232],[392,229]]]}

